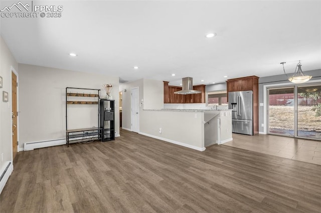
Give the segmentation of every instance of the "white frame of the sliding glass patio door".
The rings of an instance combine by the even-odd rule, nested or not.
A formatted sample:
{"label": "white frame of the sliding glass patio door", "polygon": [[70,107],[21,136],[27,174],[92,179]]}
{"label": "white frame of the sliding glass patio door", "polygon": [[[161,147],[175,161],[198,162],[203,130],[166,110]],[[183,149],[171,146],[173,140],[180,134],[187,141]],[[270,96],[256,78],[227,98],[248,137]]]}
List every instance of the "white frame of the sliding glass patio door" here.
{"label": "white frame of the sliding glass patio door", "polygon": [[[320,85],[321,80],[312,80],[304,84],[293,84],[293,83],[284,83],[284,84],[270,84],[270,85],[263,85],[263,121],[264,121],[264,134],[270,134],[268,132],[268,127],[269,127],[269,114],[268,114],[268,107],[269,107],[269,92],[268,89],[277,89],[277,88],[288,88],[292,87],[294,88],[293,91],[293,96],[294,96],[294,138],[302,138],[302,139],[310,139],[310,140],[321,140],[321,138],[311,138],[311,137],[303,137],[303,136],[298,136],[297,131],[298,131],[298,106],[297,106],[297,87],[305,87],[305,86],[314,86],[314,85]],[[288,135],[282,135],[282,134],[274,134],[273,135],[279,135],[279,136],[287,136],[287,137],[292,137]]]}

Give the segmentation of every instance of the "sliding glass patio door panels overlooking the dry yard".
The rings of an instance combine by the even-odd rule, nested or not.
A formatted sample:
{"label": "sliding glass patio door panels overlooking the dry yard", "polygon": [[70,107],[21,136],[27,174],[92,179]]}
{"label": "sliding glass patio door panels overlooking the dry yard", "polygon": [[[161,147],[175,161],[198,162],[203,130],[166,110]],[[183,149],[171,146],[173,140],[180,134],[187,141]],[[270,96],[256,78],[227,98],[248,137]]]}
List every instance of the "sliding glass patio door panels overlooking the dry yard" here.
{"label": "sliding glass patio door panels overlooking the dry yard", "polygon": [[268,88],[268,133],[321,139],[321,83]]}

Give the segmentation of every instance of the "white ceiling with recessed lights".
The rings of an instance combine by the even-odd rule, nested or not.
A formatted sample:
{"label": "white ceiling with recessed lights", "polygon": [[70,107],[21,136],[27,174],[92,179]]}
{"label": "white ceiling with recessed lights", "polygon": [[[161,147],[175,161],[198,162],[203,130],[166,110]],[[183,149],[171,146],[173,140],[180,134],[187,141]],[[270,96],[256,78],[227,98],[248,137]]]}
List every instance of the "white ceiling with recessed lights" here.
{"label": "white ceiling with recessed lights", "polygon": [[1,18],[18,63],[172,85],[279,75],[280,62],[293,72],[298,60],[303,71],[321,69],[321,1],[36,3],[62,5],[62,18]]}

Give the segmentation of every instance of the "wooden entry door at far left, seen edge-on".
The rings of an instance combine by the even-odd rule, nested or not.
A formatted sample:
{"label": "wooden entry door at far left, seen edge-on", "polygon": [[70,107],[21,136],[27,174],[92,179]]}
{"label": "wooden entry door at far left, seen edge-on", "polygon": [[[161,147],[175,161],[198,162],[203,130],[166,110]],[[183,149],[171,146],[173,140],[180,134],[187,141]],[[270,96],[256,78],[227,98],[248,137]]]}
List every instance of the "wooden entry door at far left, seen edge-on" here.
{"label": "wooden entry door at far left, seen edge-on", "polygon": [[17,76],[12,72],[12,150],[13,159],[18,152]]}

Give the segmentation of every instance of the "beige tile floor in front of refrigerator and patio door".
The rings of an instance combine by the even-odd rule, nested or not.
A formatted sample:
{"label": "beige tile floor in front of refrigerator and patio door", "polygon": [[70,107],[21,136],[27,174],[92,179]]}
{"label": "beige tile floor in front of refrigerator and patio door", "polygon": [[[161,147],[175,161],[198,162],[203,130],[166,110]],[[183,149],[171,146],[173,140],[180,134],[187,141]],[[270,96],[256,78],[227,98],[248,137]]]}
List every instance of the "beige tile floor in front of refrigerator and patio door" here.
{"label": "beige tile floor in front of refrigerator and patio door", "polygon": [[321,141],[258,134],[233,134],[226,146],[321,165]]}

